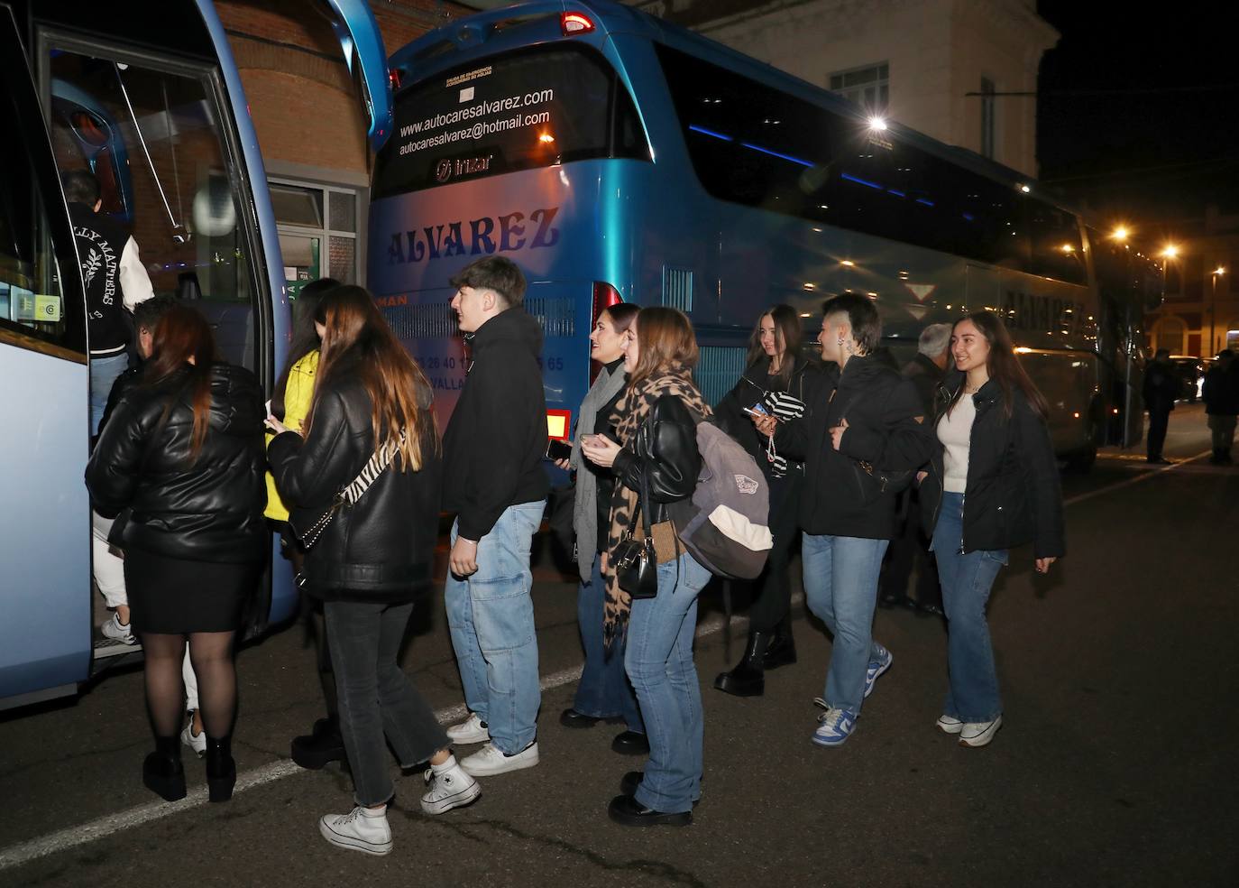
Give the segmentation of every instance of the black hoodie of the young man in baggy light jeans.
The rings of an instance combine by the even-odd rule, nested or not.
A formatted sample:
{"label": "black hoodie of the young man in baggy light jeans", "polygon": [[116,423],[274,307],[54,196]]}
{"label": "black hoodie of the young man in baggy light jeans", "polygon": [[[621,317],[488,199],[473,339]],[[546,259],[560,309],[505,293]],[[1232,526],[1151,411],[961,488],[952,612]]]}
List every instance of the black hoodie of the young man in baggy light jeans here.
{"label": "black hoodie of the young man in baggy light jeans", "polygon": [[541,327],[522,308],[473,334],[473,363],[444,433],[444,508],[481,539],[509,506],[546,499]]}

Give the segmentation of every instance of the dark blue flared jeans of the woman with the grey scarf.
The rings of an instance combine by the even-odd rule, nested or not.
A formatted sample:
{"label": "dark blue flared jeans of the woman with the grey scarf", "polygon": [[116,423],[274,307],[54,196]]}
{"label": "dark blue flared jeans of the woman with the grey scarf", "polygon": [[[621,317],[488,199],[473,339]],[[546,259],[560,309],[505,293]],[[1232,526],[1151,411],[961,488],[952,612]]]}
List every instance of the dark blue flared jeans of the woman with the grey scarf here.
{"label": "dark blue flared jeans of the woman with the grey scarf", "polygon": [[623,716],[628,730],[644,734],[646,723],[641,721],[637,695],[623,670],[627,636],[620,635],[612,641],[611,650],[602,642],[602,604],[607,599],[607,589],[601,567],[601,558],[595,552],[590,582],[581,583],[576,593],[576,621],[581,630],[581,646],[585,647],[585,667],[572,708],[591,718]]}

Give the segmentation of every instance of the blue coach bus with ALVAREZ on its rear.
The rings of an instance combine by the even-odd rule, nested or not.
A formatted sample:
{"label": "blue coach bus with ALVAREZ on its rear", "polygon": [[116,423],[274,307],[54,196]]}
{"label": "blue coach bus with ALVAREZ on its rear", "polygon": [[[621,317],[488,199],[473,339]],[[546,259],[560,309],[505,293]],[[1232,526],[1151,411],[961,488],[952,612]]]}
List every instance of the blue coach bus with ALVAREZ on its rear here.
{"label": "blue coach bus with ALVAREZ on its rear", "polygon": [[[606,0],[529,2],[392,57],[369,284],[445,412],[463,384],[450,277],[486,254],[527,272],[545,330],[553,437],[590,384],[587,335],[615,300],[691,317],[698,382],[721,397],[761,310],[876,300],[887,345],[981,308],[1007,319],[1087,465],[1141,430],[1137,356],[1154,265],[1015,171],[699,35]],[[807,326],[814,321],[807,321]],[[1135,409],[1132,409],[1135,408]]]}

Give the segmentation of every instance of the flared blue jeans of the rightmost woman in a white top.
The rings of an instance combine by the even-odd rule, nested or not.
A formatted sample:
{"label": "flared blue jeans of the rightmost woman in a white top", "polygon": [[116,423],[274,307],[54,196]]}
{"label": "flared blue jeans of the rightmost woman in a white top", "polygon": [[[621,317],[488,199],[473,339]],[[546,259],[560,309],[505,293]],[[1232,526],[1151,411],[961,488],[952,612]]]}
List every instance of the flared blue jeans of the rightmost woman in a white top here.
{"label": "flared blue jeans of the rightmost woman in a white top", "polygon": [[964,495],[943,494],[933,549],[947,611],[947,702],[942,712],[961,722],[990,722],[1002,712],[994,645],[985,605],[1006,549],[960,554],[964,542]]}

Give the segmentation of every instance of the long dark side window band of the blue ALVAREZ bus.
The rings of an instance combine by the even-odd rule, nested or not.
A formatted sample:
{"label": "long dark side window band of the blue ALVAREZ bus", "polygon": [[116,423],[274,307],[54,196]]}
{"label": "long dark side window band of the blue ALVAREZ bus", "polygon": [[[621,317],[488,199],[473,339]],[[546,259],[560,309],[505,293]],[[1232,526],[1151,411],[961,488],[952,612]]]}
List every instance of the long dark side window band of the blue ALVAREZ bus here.
{"label": "long dark side window band of the blue ALVAREZ bus", "polygon": [[[1064,260],[1074,216],[919,148],[694,56],[657,45],[698,179],[712,196],[1032,270],[1030,224],[1058,247],[1038,273],[1077,282]],[[1052,232],[1052,236],[1049,234]],[[1072,263],[1072,264],[1068,264]]]}

